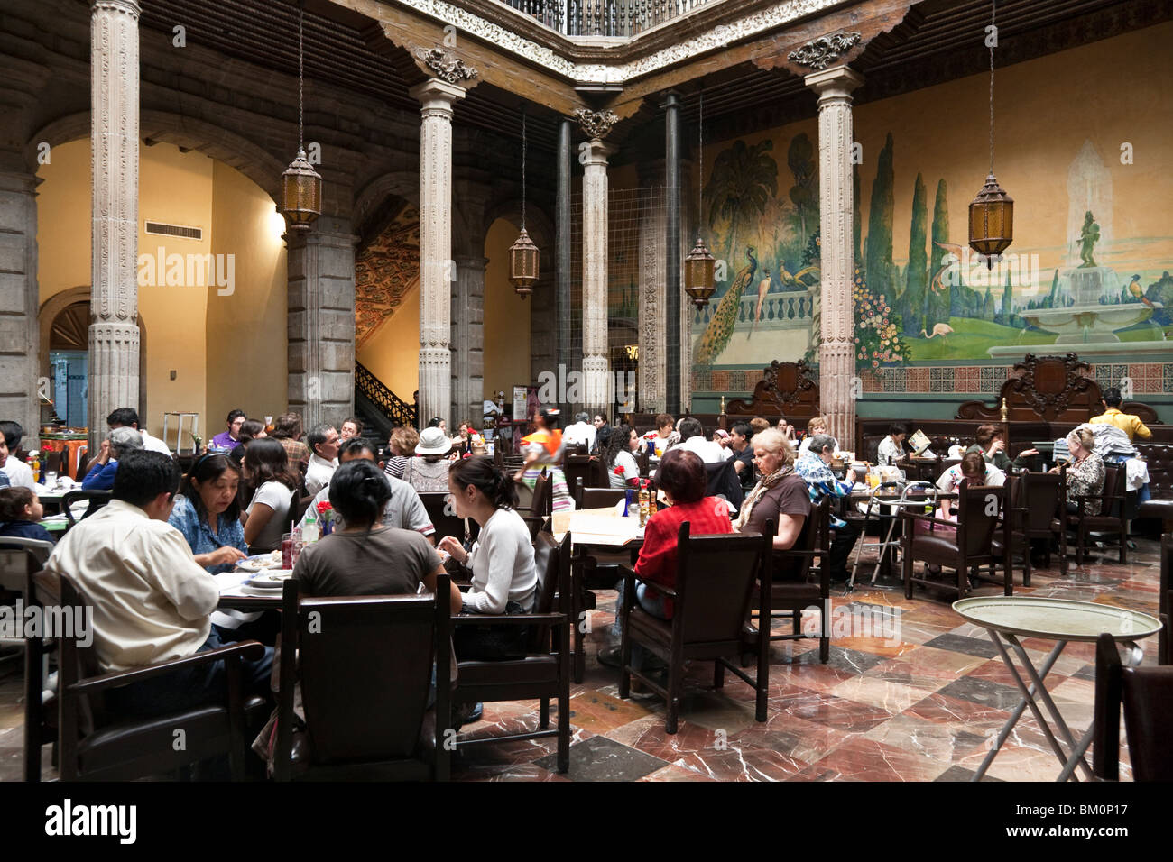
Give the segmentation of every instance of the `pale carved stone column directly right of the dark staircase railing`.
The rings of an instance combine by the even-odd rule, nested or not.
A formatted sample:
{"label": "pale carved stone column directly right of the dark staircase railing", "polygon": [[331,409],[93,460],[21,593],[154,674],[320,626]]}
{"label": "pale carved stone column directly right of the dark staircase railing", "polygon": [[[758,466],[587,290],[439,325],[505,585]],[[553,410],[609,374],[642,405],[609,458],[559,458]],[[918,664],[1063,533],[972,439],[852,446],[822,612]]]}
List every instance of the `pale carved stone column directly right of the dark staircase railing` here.
{"label": "pale carved stone column directly right of the dark staircase railing", "polygon": [[[452,408],[452,113],[465,88],[429,79],[412,88],[420,127],[420,420]],[[482,291],[483,292],[483,291]]]}

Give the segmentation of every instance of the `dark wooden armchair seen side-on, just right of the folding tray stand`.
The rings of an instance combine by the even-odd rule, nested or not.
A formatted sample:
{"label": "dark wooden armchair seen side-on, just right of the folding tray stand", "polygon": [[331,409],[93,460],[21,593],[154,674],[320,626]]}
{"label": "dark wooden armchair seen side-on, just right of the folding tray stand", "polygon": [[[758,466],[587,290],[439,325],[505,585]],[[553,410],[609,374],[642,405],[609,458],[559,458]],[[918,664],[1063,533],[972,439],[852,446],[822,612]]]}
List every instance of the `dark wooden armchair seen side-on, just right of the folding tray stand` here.
{"label": "dark wooden armchair seen side-on, just right of the folding tray stand", "polygon": [[[929,565],[954,569],[957,576],[957,596],[964,597],[969,591],[967,576],[976,581],[998,583],[995,570],[1002,564],[1002,588],[1006,596],[1013,595],[1013,570],[1011,555],[995,552],[994,538],[999,535],[1003,548],[1011,548],[1010,517],[1002,517],[1006,509],[1006,489],[989,486],[970,486],[962,480],[958,489],[957,521],[943,521],[938,517],[917,515],[910,511],[901,513],[904,536],[901,550],[904,565],[904,597],[913,597],[913,584],[923,586],[942,586],[938,581],[929,579],[928,572],[922,577],[913,576],[913,562],[922,561]],[[917,535],[917,523],[930,524],[929,535]],[[955,528],[956,535],[944,534],[935,528]],[[936,534],[936,535],[934,535]],[[990,575],[982,575],[979,569],[989,566]],[[948,584],[944,584],[948,586]]]}

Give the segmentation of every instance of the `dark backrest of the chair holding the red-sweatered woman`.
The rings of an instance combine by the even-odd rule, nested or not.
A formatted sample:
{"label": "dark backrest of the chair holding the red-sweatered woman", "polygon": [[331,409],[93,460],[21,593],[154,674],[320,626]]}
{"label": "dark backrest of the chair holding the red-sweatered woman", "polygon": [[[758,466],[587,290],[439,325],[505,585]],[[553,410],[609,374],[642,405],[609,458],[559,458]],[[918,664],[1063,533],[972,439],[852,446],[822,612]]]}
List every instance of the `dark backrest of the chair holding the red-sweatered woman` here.
{"label": "dark backrest of the chair holding the red-sweatered woman", "polygon": [[685,521],[677,534],[678,599],[673,625],[685,645],[735,642],[748,619],[759,577],[771,583],[773,522],[753,532],[692,536]]}

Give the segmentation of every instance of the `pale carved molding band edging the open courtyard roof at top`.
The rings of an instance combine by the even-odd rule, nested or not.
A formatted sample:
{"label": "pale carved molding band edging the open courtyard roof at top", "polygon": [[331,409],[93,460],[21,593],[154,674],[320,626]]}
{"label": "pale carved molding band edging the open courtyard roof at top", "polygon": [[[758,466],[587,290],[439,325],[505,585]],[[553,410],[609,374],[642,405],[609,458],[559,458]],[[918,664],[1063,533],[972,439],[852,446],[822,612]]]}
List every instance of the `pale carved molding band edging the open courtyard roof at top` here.
{"label": "pale carved molding band edging the open courtyard roof at top", "polygon": [[[499,50],[522,57],[549,72],[570,79],[575,83],[623,84],[670,66],[692,60],[711,50],[726,48],[733,42],[767,33],[792,21],[829,9],[839,5],[840,1],[782,0],[737,21],[719,23],[703,33],[691,33],[690,16],[682,16],[662,25],[665,30],[677,23],[684,25],[680,27],[682,36],[684,38],[679,41],[653,50],[637,60],[616,65],[576,63],[548,46],[540,45],[531,39],[511,32],[501,23],[487,21],[468,9],[463,9],[452,2],[446,2],[446,0],[396,0],[396,5],[406,6],[429,18],[450,23],[477,39],[489,42]],[[733,0],[726,0],[726,2],[732,4]],[[714,6],[718,5],[714,4]],[[724,4],[720,4],[720,6],[724,6]],[[517,13],[517,15],[522,15],[522,13]],[[647,39],[651,34],[658,32],[660,32],[660,27],[646,30],[632,38],[628,45],[638,48],[640,40]],[[686,33],[690,34],[685,35]]]}

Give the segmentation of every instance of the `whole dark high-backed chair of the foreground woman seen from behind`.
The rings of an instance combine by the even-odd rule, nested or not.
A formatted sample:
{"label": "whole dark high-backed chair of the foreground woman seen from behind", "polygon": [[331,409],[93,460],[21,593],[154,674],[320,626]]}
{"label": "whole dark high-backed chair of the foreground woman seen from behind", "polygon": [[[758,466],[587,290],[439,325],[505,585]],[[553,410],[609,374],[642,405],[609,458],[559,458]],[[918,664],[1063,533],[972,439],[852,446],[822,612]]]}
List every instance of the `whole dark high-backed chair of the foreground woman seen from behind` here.
{"label": "whole dark high-backed chair of the foreground woman seen from behind", "polygon": [[[274,776],[289,780],[446,781],[452,691],[449,581],[436,596],[282,595]],[[438,598],[439,597],[439,598]],[[428,718],[435,671],[435,712]],[[293,756],[300,685],[307,751]]]}

